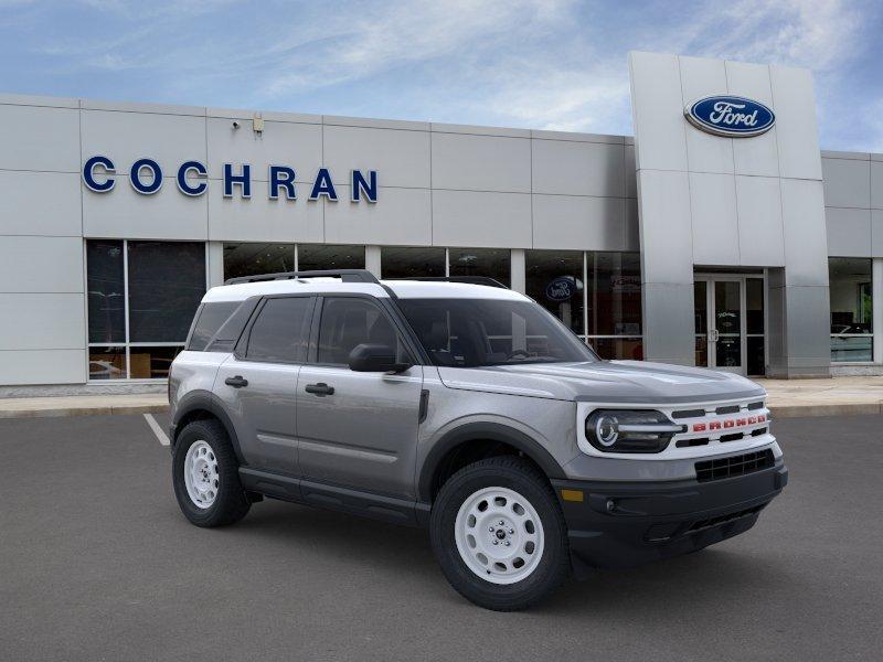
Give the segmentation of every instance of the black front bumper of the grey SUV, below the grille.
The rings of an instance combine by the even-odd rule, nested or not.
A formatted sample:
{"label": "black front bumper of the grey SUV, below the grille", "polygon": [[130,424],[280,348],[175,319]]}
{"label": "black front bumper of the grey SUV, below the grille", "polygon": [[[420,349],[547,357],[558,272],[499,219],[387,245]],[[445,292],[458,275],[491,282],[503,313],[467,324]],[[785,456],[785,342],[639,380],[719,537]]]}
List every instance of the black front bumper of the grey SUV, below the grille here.
{"label": "black front bumper of the grey SUV, below the grille", "polygon": [[552,481],[577,570],[581,563],[636,566],[744,533],[787,483],[780,458],[768,469],[709,482]]}

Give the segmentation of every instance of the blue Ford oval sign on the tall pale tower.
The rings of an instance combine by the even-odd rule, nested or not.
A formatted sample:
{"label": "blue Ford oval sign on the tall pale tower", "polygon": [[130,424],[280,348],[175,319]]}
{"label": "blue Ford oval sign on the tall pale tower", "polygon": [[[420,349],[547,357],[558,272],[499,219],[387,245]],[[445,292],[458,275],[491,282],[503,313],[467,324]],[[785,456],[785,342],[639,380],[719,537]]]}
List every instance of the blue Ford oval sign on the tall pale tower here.
{"label": "blue Ford oval sign on the tall pale tower", "polygon": [[772,109],[759,102],[735,96],[695,100],[683,109],[683,114],[698,129],[728,138],[759,136],[776,124]]}

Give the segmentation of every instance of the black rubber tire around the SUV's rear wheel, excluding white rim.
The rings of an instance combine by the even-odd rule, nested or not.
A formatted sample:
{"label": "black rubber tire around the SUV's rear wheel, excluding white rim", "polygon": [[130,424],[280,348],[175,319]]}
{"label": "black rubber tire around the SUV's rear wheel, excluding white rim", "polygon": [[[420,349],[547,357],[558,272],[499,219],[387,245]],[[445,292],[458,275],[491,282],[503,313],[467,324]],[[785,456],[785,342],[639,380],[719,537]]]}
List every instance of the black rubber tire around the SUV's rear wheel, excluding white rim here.
{"label": "black rubber tire around the SUV's rear wheel, excluding white rim", "polygon": [[[209,508],[200,508],[190,498],[184,483],[184,459],[196,441],[205,441],[214,453],[217,463],[219,484],[214,502]],[[217,420],[194,420],[178,435],[172,457],[172,484],[181,512],[196,526],[225,526],[242,520],[251,508],[240,482],[238,462],[230,438]]]}

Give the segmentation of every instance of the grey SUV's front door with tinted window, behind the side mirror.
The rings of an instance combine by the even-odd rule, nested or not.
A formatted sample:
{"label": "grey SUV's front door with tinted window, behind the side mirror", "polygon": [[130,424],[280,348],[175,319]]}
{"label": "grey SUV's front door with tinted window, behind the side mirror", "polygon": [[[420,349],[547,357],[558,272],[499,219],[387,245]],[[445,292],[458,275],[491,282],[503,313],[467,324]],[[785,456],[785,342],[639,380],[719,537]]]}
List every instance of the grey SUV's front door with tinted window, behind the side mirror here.
{"label": "grey SUV's front door with tinted window, behind the side mirror", "polygon": [[316,306],[310,360],[297,387],[298,461],[305,479],[414,495],[423,367],[353,372],[352,349],[393,346],[413,363],[392,316],[372,297],[328,296]]}

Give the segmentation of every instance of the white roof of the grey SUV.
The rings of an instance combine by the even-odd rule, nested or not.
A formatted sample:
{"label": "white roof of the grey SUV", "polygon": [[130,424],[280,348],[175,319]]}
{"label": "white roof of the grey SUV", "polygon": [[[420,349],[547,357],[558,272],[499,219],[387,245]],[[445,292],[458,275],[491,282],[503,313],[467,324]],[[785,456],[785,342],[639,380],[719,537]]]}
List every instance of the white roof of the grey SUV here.
{"label": "white roof of the grey SUV", "polygon": [[[528,301],[510,289],[472,285],[470,282],[445,282],[430,280],[382,280],[401,299],[503,299]],[[385,298],[390,293],[374,282],[341,282],[339,278],[304,278],[300,280],[264,280],[213,287],[202,298],[204,303],[219,301],[244,301],[260,295],[284,293],[364,293]]]}

